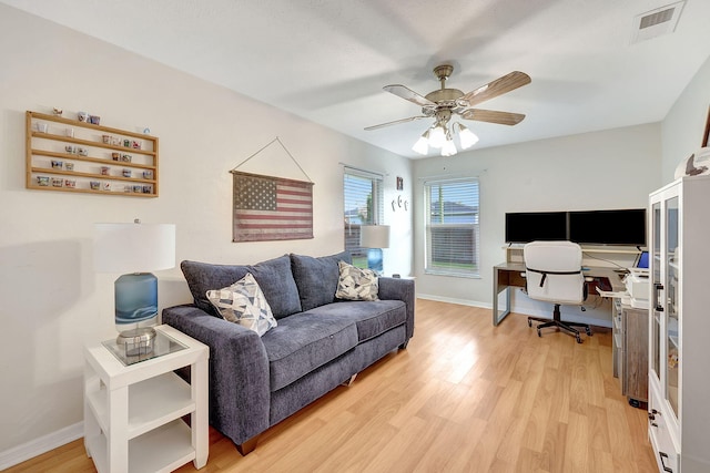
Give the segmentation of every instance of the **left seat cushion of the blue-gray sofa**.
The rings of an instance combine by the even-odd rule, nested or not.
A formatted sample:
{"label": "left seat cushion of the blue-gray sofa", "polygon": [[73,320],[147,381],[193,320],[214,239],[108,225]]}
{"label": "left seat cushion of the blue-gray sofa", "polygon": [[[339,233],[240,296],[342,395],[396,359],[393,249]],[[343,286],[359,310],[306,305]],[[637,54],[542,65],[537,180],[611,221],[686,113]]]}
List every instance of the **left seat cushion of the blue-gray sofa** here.
{"label": "left seat cushion of the blue-gray sofa", "polygon": [[273,392],[353,349],[357,329],[345,318],[297,313],[280,319],[262,342]]}

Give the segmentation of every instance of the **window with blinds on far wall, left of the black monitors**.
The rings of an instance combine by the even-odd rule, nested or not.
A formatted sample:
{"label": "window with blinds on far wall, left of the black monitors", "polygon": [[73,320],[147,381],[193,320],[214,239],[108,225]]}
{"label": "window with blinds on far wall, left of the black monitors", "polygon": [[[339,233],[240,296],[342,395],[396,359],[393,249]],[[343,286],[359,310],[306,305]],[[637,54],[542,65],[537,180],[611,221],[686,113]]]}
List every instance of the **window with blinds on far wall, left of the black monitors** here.
{"label": "window with blinds on far wall, left of the black monitors", "polygon": [[425,273],[479,276],[478,179],[428,181]]}

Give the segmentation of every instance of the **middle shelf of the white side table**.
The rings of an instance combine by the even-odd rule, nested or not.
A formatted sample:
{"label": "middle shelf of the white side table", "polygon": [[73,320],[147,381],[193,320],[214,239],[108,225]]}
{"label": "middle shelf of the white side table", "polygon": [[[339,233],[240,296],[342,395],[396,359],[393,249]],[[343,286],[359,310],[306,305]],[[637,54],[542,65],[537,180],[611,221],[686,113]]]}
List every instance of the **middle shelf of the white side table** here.
{"label": "middle shelf of the white side table", "polygon": [[[129,387],[129,439],[195,410],[190,384],[169,372]],[[89,394],[89,405],[102,431],[109,431],[108,391]]]}

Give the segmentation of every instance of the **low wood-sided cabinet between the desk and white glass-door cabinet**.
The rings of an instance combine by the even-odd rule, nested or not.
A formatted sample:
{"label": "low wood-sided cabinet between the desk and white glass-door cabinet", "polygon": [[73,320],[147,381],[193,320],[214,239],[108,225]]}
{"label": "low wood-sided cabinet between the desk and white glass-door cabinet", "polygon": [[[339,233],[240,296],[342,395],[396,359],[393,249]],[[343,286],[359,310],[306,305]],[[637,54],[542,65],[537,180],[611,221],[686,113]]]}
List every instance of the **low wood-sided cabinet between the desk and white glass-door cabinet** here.
{"label": "low wood-sided cabinet between the desk and white glass-door cabinet", "polygon": [[640,408],[648,401],[648,309],[636,309],[613,299],[613,376],[629,404]]}

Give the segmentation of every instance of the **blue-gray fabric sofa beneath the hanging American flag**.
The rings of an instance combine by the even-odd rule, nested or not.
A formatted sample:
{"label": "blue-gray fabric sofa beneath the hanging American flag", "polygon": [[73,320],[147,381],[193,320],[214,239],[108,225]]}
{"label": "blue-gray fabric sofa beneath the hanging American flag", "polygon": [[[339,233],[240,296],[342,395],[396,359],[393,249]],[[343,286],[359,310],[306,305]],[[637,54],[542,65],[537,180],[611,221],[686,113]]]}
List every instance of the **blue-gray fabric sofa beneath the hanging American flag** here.
{"label": "blue-gray fabric sofa beneath the hanging American flag", "polygon": [[[210,423],[243,455],[261,432],[315,401],[414,335],[414,281],[379,278],[376,301],[335,299],[338,260],[285,255],[253,266],[182,261],[194,304],[163,322],[210,347]],[[243,278],[258,282],[277,327],[260,337],[224,320],[205,294]]]}

